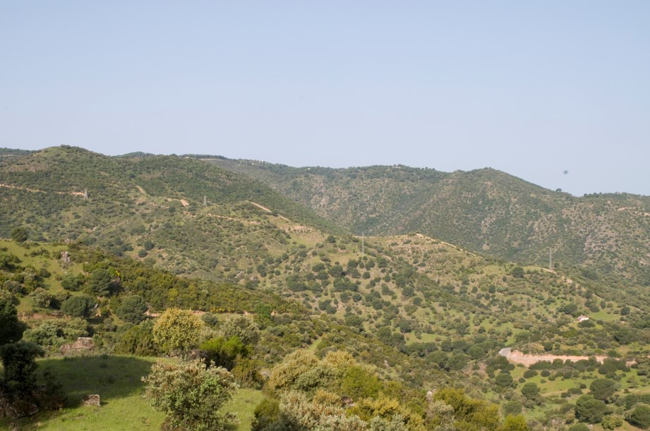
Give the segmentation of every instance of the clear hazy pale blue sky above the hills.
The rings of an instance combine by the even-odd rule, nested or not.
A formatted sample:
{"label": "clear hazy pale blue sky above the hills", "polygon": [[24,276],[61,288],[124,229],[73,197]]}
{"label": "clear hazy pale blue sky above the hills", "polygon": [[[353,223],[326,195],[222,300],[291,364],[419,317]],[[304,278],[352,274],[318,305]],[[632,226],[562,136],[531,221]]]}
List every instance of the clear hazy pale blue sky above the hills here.
{"label": "clear hazy pale blue sky above the hills", "polygon": [[647,0],[2,1],[0,147],[650,195],[649,23]]}

